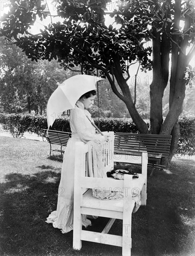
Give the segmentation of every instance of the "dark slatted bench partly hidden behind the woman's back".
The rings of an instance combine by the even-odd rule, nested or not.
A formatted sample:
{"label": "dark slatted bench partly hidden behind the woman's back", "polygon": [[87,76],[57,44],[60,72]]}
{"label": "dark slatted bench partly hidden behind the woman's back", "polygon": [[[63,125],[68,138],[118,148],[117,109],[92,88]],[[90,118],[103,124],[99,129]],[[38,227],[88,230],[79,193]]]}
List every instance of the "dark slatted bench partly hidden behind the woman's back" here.
{"label": "dark slatted bench partly hidden behind the woman's back", "polygon": [[[50,144],[50,155],[51,155],[51,151],[58,151],[58,152],[61,152],[61,154],[64,153],[64,150],[62,150],[62,146],[63,147],[67,146],[67,141],[71,137],[71,133],[48,130],[48,136],[47,136],[47,129],[43,129],[43,133]],[[60,145],[61,149],[52,148],[53,144]]]}

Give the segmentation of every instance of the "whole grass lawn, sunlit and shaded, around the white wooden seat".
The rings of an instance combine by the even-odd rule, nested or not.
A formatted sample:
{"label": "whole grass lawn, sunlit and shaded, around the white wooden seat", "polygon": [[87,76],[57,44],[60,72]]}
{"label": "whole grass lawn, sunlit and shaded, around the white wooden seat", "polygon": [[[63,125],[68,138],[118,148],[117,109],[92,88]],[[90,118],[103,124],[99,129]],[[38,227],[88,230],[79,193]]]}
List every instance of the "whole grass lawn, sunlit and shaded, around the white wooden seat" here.
{"label": "whole grass lawn, sunlit and shaded, around the white wooden seat", "polygon": [[[89,242],[74,251],[73,232],[45,222],[56,209],[62,164],[48,153],[47,142],[1,137],[0,255],[121,256],[120,247]],[[147,206],[132,216],[132,256],[194,256],[194,174],[193,160],[174,158],[169,170],[148,176]],[[121,235],[121,221],[110,232]]]}

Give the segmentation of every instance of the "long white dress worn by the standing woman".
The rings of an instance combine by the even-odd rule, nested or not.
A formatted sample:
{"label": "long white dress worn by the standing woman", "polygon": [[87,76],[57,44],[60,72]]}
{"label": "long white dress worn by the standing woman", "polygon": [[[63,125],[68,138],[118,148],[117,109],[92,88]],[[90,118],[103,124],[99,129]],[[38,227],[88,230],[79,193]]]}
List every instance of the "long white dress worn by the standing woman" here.
{"label": "long white dress worn by the standing woman", "polygon": [[[95,128],[87,119],[91,119],[90,113],[85,110],[81,101],[77,101],[74,109],[70,113],[70,128],[72,137],[67,143],[64,153],[61,181],[58,189],[57,209],[47,217],[47,223],[53,223],[54,228],[61,229],[62,233],[67,233],[73,229],[73,200],[74,200],[74,152],[75,143],[83,141],[87,143],[91,140],[103,141],[102,135],[95,134]],[[87,227],[90,220],[82,215],[82,224]]]}

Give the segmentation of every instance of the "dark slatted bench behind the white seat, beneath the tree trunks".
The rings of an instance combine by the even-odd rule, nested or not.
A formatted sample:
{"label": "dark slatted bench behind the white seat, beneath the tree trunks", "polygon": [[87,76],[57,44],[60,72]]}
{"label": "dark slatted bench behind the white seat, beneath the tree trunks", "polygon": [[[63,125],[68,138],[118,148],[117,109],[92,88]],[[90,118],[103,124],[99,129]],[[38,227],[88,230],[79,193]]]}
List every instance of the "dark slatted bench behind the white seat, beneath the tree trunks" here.
{"label": "dark slatted bench behind the white seat, beneath the tree trunks", "polygon": [[[162,158],[167,158],[170,151],[171,135],[116,133],[114,137],[114,154],[139,155],[148,152],[148,166],[163,168]],[[158,163],[157,163],[158,162]]]}

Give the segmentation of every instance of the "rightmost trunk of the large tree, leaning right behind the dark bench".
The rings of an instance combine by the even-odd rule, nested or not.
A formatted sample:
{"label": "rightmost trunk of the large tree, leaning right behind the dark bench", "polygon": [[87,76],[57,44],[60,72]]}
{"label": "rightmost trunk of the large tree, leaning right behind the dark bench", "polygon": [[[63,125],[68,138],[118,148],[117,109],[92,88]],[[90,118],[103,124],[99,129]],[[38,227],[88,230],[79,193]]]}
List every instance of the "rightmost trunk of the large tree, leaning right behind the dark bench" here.
{"label": "rightmost trunk of the large tree, leaning right behind the dark bench", "polygon": [[[175,5],[174,14],[174,30],[180,29],[180,17],[181,17],[182,1],[178,0]],[[190,27],[190,16],[185,16],[185,25],[183,30],[186,31]],[[182,113],[183,100],[185,98],[185,71],[192,53],[186,55],[186,49],[188,47],[188,34],[181,40],[179,34],[175,34],[172,40],[179,43],[180,49],[175,43],[172,43],[172,59],[171,59],[171,77],[170,77],[170,94],[169,94],[169,112],[161,128],[162,134],[171,134],[171,148],[168,156],[168,164],[170,163],[180,137],[180,128],[178,117]],[[180,42],[181,41],[181,42]],[[182,50],[182,51],[181,51]]]}

